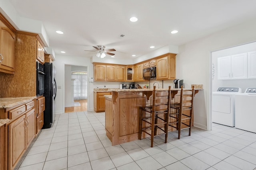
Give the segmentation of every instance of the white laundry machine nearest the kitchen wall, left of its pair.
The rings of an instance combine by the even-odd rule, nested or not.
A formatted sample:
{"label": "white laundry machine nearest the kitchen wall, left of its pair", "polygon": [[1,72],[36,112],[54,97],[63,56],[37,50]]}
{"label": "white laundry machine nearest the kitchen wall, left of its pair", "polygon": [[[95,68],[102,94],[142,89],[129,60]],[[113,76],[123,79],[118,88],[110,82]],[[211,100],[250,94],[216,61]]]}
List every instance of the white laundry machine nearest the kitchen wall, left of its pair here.
{"label": "white laundry machine nearest the kitchen wall, left of its pair", "polygon": [[220,87],[212,92],[212,122],[235,126],[235,94],[242,93],[238,87]]}

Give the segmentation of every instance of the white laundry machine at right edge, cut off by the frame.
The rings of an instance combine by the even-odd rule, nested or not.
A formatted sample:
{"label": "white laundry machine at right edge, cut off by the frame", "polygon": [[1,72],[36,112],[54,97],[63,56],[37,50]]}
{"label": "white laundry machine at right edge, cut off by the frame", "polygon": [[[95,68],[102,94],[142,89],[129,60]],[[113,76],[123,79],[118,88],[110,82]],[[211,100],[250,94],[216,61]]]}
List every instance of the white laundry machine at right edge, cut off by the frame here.
{"label": "white laundry machine at right edge, cut off by the frame", "polygon": [[256,88],[247,88],[244,93],[237,94],[236,128],[256,133]]}

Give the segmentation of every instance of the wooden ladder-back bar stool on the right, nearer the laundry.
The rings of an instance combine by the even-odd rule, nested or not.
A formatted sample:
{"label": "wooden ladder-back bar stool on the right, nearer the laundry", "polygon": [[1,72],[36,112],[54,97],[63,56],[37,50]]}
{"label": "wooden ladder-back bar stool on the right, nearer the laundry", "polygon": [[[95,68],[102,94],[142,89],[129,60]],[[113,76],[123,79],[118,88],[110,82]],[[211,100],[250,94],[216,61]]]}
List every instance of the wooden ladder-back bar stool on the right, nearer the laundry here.
{"label": "wooden ladder-back bar stool on the right, nearer the laundry", "polygon": [[[194,102],[194,86],[191,90],[184,90],[181,86],[180,102],[170,104],[170,122],[169,126],[178,130],[178,139],[180,139],[181,129],[189,128],[189,136],[191,135],[192,117],[193,117],[193,102]],[[174,109],[174,111],[172,110]]]}

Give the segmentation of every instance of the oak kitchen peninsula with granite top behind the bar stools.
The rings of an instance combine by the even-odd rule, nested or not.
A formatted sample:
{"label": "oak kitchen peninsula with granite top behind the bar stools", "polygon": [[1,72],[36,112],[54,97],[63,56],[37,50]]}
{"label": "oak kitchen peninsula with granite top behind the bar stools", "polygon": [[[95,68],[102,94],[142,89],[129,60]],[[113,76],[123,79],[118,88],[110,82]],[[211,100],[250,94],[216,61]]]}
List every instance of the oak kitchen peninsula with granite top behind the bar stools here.
{"label": "oak kitchen peninsula with granite top behind the bar stools", "polygon": [[[178,88],[171,89],[172,99],[179,90]],[[195,88],[195,94],[198,90],[202,88]],[[152,92],[153,89],[113,89],[112,95],[105,95],[105,128],[112,145],[138,139],[139,109],[140,106],[150,105]],[[169,131],[172,131],[172,127],[169,127]]]}

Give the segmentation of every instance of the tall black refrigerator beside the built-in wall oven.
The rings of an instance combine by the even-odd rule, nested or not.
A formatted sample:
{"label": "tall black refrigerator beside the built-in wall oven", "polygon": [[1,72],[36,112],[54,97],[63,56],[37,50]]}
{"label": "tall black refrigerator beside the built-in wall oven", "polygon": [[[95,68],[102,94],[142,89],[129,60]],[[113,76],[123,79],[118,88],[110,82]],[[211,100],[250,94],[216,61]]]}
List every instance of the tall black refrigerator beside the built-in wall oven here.
{"label": "tall black refrigerator beside the built-in wall oven", "polygon": [[52,63],[44,63],[44,97],[45,97],[45,110],[44,110],[44,126],[42,129],[52,127],[55,120],[55,104],[56,98],[56,68]]}

